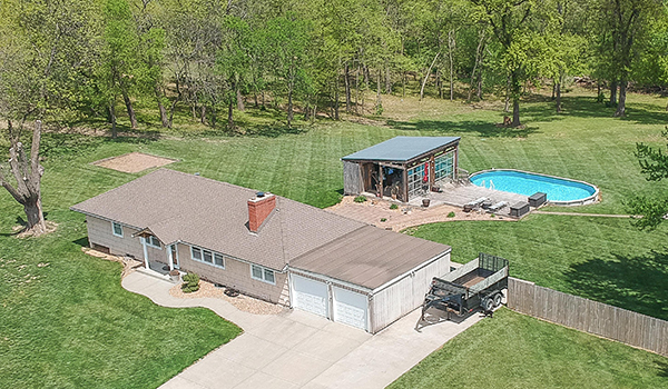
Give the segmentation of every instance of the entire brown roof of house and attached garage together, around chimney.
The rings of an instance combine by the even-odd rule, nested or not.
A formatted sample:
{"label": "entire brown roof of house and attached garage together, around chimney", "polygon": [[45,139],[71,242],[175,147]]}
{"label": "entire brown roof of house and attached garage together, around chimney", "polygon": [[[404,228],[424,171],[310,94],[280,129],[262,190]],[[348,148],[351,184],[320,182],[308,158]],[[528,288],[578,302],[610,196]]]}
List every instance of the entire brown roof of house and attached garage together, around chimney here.
{"label": "entire brown roof of house and attached garage together, around chimney", "polygon": [[165,245],[204,247],[275,270],[286,265],[369,289],[450,250],[283,197],[257,233],[248,230],[256,191],[159,169],[71,207],[148,229]]}

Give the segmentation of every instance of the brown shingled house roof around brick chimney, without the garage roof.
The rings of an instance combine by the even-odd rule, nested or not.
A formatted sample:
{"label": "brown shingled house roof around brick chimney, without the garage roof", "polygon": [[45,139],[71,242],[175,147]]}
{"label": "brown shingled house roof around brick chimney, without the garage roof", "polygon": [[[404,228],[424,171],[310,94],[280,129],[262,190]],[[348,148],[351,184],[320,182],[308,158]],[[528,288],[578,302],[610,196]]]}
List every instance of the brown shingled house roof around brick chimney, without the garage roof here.
{"label": "brown shingled house roof around brick chimney, without the garage roof", "polygon": [[71,207],[86,215],[149,229],[163,243],[205,247],[282,270],[291,259],[364,223],[283,197],[258,233],[248,230],[255,190],[159,169]]}

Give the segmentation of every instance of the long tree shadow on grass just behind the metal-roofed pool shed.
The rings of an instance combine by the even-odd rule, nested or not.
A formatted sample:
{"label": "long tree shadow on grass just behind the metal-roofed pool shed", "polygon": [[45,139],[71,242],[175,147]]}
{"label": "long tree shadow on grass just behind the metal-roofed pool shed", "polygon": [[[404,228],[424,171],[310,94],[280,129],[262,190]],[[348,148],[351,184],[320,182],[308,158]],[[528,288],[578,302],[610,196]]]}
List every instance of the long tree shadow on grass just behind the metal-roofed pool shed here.
{"label": "long tree shadow on grass just behind the metal-roofed pool shed", "polygon": [[538,133],[538,127],[497,127],[495,123],[484,120],[415,120],[395,121],[387,120],[387,126],[404,131],[444,132],[478,134],[481,138],[527,138]]}

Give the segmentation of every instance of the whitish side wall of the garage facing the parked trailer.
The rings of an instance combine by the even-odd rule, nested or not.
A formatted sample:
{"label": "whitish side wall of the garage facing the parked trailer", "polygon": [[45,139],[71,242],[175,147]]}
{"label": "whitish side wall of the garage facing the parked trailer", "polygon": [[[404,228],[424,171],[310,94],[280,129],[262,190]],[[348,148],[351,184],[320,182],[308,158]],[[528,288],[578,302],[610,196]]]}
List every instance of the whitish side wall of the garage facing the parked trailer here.
{"label": "whitish side wall of the garage facing the parked trailer", "polygon": [[376,333],[404,315],[420,307],[429,291],[432,278],[450,271],[450,253],[407,275],[400,281],[377,291],[371,301],[371,331]]}

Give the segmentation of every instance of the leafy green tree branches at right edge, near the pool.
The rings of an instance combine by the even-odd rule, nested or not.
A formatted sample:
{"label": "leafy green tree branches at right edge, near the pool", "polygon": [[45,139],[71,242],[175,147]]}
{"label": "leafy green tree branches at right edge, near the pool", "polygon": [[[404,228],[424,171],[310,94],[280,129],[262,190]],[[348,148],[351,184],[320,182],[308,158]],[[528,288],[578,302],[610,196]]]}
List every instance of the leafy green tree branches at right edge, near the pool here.
{"label": "leafy green tree branches at right edge, near the pool", "polygon": [[[668,128],[662,132],[668,138]],[[645,143],[636,143],[636,158],[648,181],[668,178],[668,154]],[[640,229],[656,229],[668,215],[668,197],[636,196],[626,202],[627,211],[636,217],[631,223]],[[639,216],[639,217],[638,217]]]}

